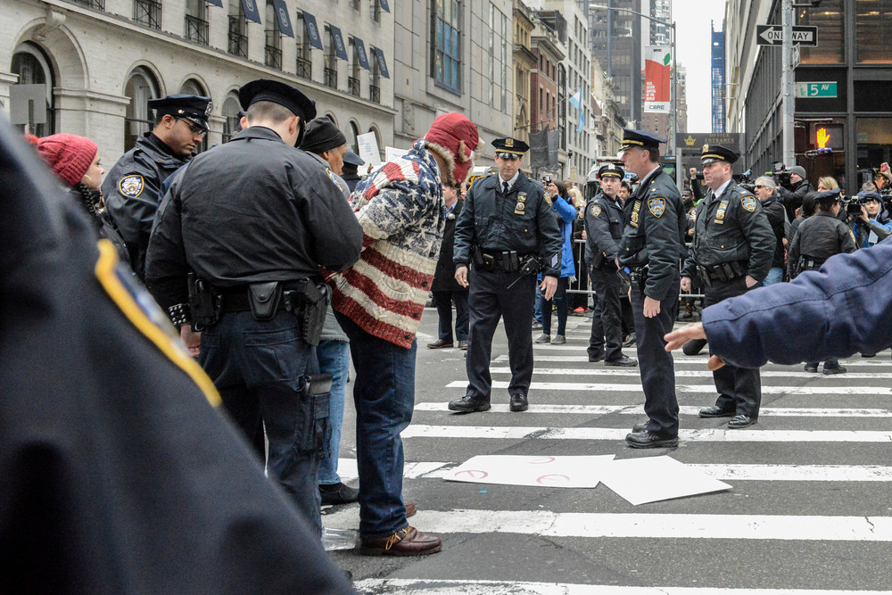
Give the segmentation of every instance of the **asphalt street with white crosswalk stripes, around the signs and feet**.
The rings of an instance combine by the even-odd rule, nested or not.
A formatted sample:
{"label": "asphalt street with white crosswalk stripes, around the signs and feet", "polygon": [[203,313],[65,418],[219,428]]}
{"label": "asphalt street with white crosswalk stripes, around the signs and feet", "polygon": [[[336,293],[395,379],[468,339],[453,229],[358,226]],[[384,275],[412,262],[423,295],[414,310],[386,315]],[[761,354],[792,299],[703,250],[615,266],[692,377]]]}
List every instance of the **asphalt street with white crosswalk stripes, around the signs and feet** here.
{"label": "asphalt street with white crosswalk stripes, around the signs and feet", "polygon": [[[849,374],[764,368],[756,426],[726,430],[700,419],[714,402],[705,358],[675,359],[682,440],[673,450],[632,450],[623,436],[641,421],[638,368],[585,358],[590,318],[571,317],[566,346],[536,346],[529,411],[456,415],[464,394],[458,350],[429,350],[436,311],[422,319],[416,412],[404,434],[410,523],[442,536],[421,558],[332,553],[366,593],[829,593],[892,589],[892,361],[843,361]],[[634,348],[625,350],[636,357]],[[493,379],[507,382],[502,327]],[[348,385],[350,401],[351,385]],[[501,406],[501,407],[499,407]],[[344,418],[341,468],[355,484],[353,409]],[[522,428],[522,429],[519,429]],[[507,432],[509,437],[500,437]],[[603,483],[593,489],[446,481],[475,455],[669,455],[731,490],[632,506]],[[358,506],[328,507],[323,523],[356,528]],[[764,591],[756,591],[764,590]],[[792,591],[787,591],[792,590]]]}

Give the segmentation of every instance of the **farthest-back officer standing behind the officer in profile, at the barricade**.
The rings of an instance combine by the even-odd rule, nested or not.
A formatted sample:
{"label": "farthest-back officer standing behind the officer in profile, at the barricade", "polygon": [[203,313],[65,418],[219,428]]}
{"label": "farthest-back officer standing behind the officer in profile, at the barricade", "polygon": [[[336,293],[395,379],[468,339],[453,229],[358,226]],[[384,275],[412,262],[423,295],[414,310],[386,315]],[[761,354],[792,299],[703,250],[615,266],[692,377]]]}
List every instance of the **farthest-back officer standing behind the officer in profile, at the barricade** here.
{"label": "farthest-back officer standing behind the officer in profile, at the barricade", "polygon": [[[591,285],[598,300],[600,317],[591,318],[589,361],[604,359],[607,366],[636,366],[623,353],[623,321],[620,308],[621,279],[619,242],[623,238],[623,204],[617,192],[625,176],[623,168],[608,163],[599,169],[601,189],[585,205],[585,261],[590,266]],[[606,349],[605,349],[606,347]]]}

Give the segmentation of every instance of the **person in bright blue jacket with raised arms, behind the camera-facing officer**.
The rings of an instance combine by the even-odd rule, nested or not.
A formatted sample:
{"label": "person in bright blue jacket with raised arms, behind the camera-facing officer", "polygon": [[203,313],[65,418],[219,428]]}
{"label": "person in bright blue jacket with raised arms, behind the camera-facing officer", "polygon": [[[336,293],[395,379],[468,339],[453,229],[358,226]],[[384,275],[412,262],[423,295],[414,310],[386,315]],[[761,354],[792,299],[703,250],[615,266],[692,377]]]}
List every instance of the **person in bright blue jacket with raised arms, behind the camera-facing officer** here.
{"label": "person in bright blue jacket with raised arms, behind the camera-facing officer", "polygon": [[[570,195],[560,182],[551,182],[545,189],[551,198],[551,208],[558,221],[563,247],[561,250],[560,277],[558,289],[550,300],[540,299],[539,306],[542,310],[542,334],[536,339],[536,343],[554,343],[563,345],[566,343],[566,317],[569,313],[569,304],[566,298],[566,290],[570,286],[570,279],[576,274],[576,266],[573,258],[573,222],[576,219],[576,210],[570,203]],[[551,309],[558,313],[558,332],[551,338]]]}

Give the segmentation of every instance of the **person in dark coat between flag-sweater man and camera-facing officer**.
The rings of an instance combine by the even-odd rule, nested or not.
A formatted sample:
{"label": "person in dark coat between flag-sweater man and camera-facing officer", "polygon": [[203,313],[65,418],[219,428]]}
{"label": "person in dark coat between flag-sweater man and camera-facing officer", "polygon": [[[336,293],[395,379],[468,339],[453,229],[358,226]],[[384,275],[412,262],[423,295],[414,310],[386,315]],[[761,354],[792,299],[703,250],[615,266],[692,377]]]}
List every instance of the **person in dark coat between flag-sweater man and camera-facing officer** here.
{"label": "person in dark coat between flag-sweater man and camera-facing officer", "polygon": [[[428,349],[452,347],[458,341],[458,349],[467,350],[468,315],[467,287],[458,285],[455,279],[455,263],[452,261],[452,250],[455,246],[455,224],[461,214],[464,201],[458,200],[458,188],[443,184],[443,202],[446,204],[446,227],[443,228],[443,240],[440,245],[440,257],[434,272],[434,306],[440,318],[439,336],[434,343],[427,343]],[[455,304],[455,335],[452,334],[452,304]]]}

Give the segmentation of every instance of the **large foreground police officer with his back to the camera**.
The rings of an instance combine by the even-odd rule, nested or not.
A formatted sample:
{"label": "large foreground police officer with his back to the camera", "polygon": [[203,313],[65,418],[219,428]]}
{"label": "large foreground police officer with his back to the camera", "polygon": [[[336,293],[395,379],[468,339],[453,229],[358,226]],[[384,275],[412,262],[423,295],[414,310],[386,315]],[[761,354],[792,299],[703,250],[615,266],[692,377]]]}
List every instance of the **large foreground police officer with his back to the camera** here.
{"label": "large foreground police officer with his back to the camera", "polygon": [[[321,531],[331,376],[311,376],[328,302],[318,267],[358,260],[362,229],[330,170],[294,149],[315,104],[265,79],[239,89],[239,102],[247,128],[196,157],[165,194],[146,281],[176,324],[191,315],[206,325],[199,362],[224,408],[249,439],[262,420],[269,475]],[[187,282],[190,271],[200,281]]]}

